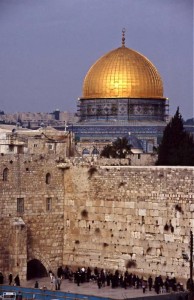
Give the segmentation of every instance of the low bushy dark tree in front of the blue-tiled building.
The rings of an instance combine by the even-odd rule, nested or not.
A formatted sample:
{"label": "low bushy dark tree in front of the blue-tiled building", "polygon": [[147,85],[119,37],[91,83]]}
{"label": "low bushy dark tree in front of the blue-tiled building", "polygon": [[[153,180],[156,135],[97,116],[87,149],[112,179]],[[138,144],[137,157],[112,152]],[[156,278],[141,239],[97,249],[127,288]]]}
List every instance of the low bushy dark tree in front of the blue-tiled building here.
{"label": "low bushy dark tree in front of the blue-tiled building", "polygon": [[107,158],[126,158],[131,153],[131,145],[129,145],[126,137],[117,138],[112,145],[106,145],[101,152],[101,156]]}

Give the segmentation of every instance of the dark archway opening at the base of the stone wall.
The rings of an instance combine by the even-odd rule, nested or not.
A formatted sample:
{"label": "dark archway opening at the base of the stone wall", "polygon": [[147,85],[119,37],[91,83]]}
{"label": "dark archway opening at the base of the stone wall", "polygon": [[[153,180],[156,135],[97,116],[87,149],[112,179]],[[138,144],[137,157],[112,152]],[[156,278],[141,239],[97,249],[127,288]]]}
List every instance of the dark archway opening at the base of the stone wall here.
{"label": "dark archway opening at the base of the stone wall", "polygon": [[27,264],[27,280],[48,276],[47,270],[38,259],[32,259]]}

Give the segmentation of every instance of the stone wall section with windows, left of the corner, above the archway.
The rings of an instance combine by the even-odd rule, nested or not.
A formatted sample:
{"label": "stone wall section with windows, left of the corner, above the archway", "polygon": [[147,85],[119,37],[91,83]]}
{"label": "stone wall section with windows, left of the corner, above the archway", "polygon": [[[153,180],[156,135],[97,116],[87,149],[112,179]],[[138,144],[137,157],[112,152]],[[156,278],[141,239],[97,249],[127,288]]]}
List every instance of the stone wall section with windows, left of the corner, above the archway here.
{"label": "stone wall section with windows, left of the corner, above the archway", "polygon": [[[64,179],[55,156],[4,155],[0,166],[1,271],[25,278],[32,259],[40,260],[47,271],[56,268],[63,253]],[[8,168],[7,181],[3,181],[4,168]],[[18,211],[18,198],[24,200],[23,212]]]}

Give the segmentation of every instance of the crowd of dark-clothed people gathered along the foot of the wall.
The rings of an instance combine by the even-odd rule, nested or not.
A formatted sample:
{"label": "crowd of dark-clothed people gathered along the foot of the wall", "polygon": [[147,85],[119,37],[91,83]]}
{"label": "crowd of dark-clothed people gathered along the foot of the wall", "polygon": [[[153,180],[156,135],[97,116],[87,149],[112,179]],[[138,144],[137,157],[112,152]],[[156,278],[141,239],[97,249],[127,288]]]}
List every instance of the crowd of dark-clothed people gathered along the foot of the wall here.
{"label": "crowd of dark-clothed people gathered along the foot of the wall", "polygon": [[[52,284],[52,276],[54,276],[54,274],[52,273],[52,271],[49,271],[49,274],[51,277]],[[97,267],[95,267],[93,270],[90,267],[82,267],[78,268],[75,271],[72,271],[71,268],[68,266],[61,266],[57,270],[57,276],[55,280],[56,290],[60,289],[60,284],[58,285],[57,279],[60,279],[60,284],[62,279],[67,279],[74,282],[78,286],[80,284],[83,284],[84,282],[93,281],[96,282],[99,289],[105,286],[110,286],[111,288],[121,287],[124,289],[142,288],[143,293],[145,293],[146,290],[152,291],[154,289],[157,294],[169,293],[171,291],[184,291],[183,284],[177,282],[175,277],[169,278],[167,276],[165,279],[163,279],[162,276],[149,276],[148,278],[145,278],[144,276],[138,276],[128,271],[125,271],[124,273],[121,273],[118,270],[116,270],[115,272],[111,272],[106,271],[104,269],[98,269]]]}

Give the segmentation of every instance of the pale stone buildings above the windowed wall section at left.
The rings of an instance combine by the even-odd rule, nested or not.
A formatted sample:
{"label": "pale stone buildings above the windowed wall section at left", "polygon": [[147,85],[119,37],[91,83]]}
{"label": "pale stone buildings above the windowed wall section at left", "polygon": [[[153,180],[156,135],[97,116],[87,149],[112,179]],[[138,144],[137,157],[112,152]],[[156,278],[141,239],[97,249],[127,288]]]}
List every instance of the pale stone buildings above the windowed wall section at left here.
{"label": "pale stone buildings above the windowed wall section at left", "polygon": [[74,136],[69,131],[59,131],[50,126],[30,130],[22,127],[0,126],[0,153],[2,154],[55,154],[73,156]]}

